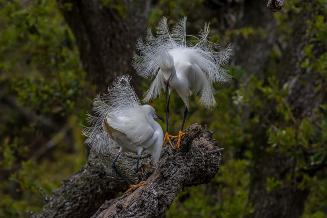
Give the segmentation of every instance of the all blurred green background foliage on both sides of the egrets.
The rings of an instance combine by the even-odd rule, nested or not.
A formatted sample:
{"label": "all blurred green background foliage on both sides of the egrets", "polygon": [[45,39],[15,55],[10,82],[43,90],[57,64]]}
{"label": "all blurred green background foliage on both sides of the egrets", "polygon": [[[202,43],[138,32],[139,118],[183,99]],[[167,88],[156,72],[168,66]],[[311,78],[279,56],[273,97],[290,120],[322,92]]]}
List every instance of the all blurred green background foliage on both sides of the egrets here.
{"label": "all blurred green background foliage on both sides of the egrets", "polygon": [[[122,18],[127,7],[119,1],[100,0],[101,7],[117,10]],[[237,4],[242,1],[234,1]],[[227,29],[223,37],[218,36],[219,19],[203,18],[202,0],[155,2],[149,18],[149,26],[156,26],[162,16],[178,20],[188,16],[188,33],[196,34],[204,22],[210,22],[214,37],[212,41],[230,41],[242,36],[255,41],[264,38],[270,29],[252,26]],[[280,13],[275,13],[277,34],[281,44],[292,37],[294,21],[303,7],[299,0],[288,1]],[[313,34],[314,41],[306,45],[306,68],[317,81],[327,77],[327,55],[318,56],[314,51],[318,43],[327,45],[326,1],[315,1],[319,9],[306,34]],[[29,210],[37,212],[42,207],[44,195],[60,185],[63,178],[84,165],[84,138],[80,124],[86,125],[85,111],[92,103],[91,85],[86,73],[81,70],[78,50],[73,34],[65,24],[59,10],[71,10],[66,3],[58,9],[55,0],[15,2],[0,0],[0,97],[14,99],[10,105],[0,107],[0,216],[22,217]],[[169,23],[170,25],[171,23]],[[249,51],[251,52],[251,51]],[[316,122],[308,118],[296,119],[294,108],[286,102],[288,86],[276,79],[279,53],[271,52],[265,78],[260,80],[251,72],[228,67],[234,76],[228,84],[215,84],[218,107],[208,112],[197,105],[198,96],[193,96],[191,110],[185,127],[199,123],[208,125],[222,151],[221,168],[211,183],[185,188],[175,199],[167,215],[170,217],[244,217],[254,208],[249,202],[250,169],[253,167],[253,134],[260,124],[267,125],[265,134],[268,153],[288,155],[296,164],[294,174],[285,178],[268,177],[266,191],[274,192],[289,187],[301,190],[310,188],[311,194],[305,205],[303,217],[325,217],[327,214],[327,180],[325,169],[310,175],[311,169],[325,164],[327,152],[327,105],[321,104],[314,111]],[[139,89],[145,92],[147,82]],[[323,93],[325,87],[318,86]],[[91,91],[90,91],[91,90]],[[323,96],[321,94],[321,96]],[[91,97],[91,98],[92,98]],[[156,113],[165,117],[165,94],[152,102]],[[272,108],[270,108],[272,107]],[[265,114],[271,109],[274,113]],[[20,111],[21,110],[21,111]],[[169,132],[176,135],[181,127],[185,106],[181,98],[173,93],[170,102]],[[24,113],[27,114],[24,116]],[[279,119],[272,119],[275,116]],[[37,119],[34,119],[36,117]],[[43,132],[44,121],[55,121],[55,133]],[[166,124],[161,123],[163,130]],[[61,129],[67,127],[68,132]],[[67,137],[72,139],[67,141]],[[55,146],[38,156],[40,149],[47,149],[48,142]],[[298,179],[298,180],[297,180]],[[40,189],[42,188],[42,189]]]}

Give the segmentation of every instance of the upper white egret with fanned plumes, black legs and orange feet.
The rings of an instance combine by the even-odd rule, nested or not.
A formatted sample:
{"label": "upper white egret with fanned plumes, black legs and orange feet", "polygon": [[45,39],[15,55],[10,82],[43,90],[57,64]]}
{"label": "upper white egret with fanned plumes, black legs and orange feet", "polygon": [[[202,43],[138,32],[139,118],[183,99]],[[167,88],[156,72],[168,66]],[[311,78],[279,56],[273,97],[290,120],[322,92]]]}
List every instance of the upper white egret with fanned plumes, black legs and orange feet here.
{"label": "upper white egret with fanned plumes, black legs and orange feet", "polygon": [[[205,24],[199,37],[186,35],[186,17],[181,19],[170,32],[167,19],[163,17],[157,26],[157,37],[152,35],[151,29],[140,39],[136,48],[139,55],[134,55],[133,66],[137,73],[147,79],[153,80],[146,91],[144,102],[160,96],[161,88],[166,90],[168,103],[166,109],[166,134],[169,137],[178,137],[177,147],[180,146],[184,122],[189,110],[189,98],[192,94],[199,94],[199,105],[205,108],[216,106],[215,90],[212,82],[227,82],[231,76],[223,68],[231,55],[230,47],[217,52],[218,43],[208,40],[209,25]],[[186,38],[194,38],[187,41]],[[194,42],[194,43],[193,43]],[[182,128],[178,136],[168,134],[169,101],[171,93],[176,90],[184,101],[186,108]],[[163,141],[163,143],[165,143]],[[163,144],[162,144],[163,145]]]}

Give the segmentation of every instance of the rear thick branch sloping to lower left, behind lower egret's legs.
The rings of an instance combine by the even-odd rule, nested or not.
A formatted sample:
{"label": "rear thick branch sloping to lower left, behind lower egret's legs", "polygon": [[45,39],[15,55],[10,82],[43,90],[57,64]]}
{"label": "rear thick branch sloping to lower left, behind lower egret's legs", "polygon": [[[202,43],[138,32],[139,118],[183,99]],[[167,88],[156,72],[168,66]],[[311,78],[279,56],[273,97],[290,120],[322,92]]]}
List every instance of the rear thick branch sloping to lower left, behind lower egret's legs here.
{"label": "rear thick branch sloping to lower left, behind lower egret's legs", "polygon": [[[90,217],[106,199],[117,197],[119,191],[128,186],[111,168],[115,155],[98,155],[91,152],[88,163],[73,175],[64,179],[61,186],[39,214],[32,217]],[[139,174],[134,174],[135,159],[121,155],[117,168],[132,183],[140,182]]]}

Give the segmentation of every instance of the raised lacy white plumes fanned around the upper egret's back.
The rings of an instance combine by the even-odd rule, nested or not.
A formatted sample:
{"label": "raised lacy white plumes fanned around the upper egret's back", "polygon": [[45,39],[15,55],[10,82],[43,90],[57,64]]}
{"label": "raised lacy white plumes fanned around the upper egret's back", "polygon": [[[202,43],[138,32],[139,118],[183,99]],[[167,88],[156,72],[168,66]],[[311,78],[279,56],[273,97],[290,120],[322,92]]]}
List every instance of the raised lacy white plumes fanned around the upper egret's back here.
{"label": "raised lacy white plumes fanned around the upper egret's back", "polygon": [[[209,41],[210,28],[207,23],[199,37],[186,35],[186,20],[186,17],[179,20],[170,32],[167,18],[163,17],[157,25],[157,37],[152,35],[151,29],[146,32],[144,40],[141,38],[136,44],[139,51],[139,55],[134,55],[133,66],[136,72],[147,79],[153,79],[161,68],[156,59],[167,60],[165,55],[161,57],[165,52],[188,48],[189,55],[193,56],[193,63],[203,70],[210,82],[229,81],[232,76],[224,67],[232,54],[231,47],[217,52],[219,44]],[[196,40],[187,41],[187,36]]]}

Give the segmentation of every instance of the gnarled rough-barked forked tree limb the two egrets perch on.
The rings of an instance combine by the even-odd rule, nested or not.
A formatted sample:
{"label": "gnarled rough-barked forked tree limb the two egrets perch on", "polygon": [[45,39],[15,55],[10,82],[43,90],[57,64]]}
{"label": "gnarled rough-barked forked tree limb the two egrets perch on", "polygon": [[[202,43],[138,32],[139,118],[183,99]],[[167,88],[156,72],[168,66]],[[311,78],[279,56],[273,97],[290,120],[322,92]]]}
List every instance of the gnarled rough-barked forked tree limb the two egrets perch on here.
{"label": "gnarled rough-barked forked tree limb the two egrets perch on", "polygon": [[[127,185],[111,168],[114,156],[90,155],[88,164],[65,179],[61,187],[44,205],[39,214],[32,217],[154,217],[165,216],[178,192],[184,187],[208,183],[216,175],[220,164],[220,151],[212,132],[194,124],[182,138],[181,149],[172,149],[168,144],[162,148],[159,168],[146,169],[143,180],[147,185],[133,189],[128,194]],[[176,143],[177,140],[172,140]],[[139,178],[131,173],[136,161],[119,158],[116,166],[122,172],[130,172],[128,179],[137,184]]]}

